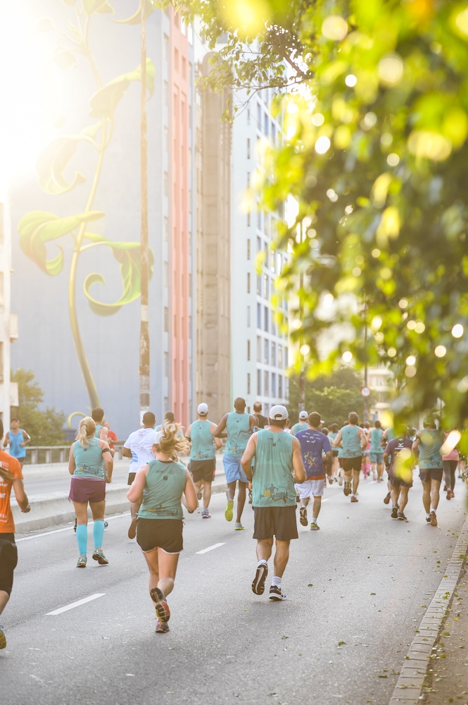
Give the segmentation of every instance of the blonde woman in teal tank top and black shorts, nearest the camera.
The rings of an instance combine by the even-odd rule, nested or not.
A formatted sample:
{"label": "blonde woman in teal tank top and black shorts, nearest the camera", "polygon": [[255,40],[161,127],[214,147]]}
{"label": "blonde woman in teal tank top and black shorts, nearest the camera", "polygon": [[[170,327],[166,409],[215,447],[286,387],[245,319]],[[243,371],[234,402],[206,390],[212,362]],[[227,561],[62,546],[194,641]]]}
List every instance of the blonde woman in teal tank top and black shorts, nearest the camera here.
{"label": "blonde woman in teal tank top and black shorts, nearest the camera", "polygon": [[[148,412],[147,412],[148,413]],[[177,453],[189,443],[177,431],[179,424],[167,424],[156,436],[153,460],[142,465],[127,497],[139,506],[137,544],[149,568],[149,594],[156,609],[156,632],[169,631],[170,610],[167,595],[174,589],[179,553],[182,551],[182,495],[186,508],[198,507],[191,475]]]}

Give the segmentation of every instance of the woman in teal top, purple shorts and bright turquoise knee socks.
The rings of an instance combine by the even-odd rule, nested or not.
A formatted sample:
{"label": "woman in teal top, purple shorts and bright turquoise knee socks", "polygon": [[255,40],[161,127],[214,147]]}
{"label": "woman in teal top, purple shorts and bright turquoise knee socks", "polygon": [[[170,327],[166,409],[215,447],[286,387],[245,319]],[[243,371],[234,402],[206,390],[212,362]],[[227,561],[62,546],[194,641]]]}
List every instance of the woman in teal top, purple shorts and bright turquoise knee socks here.
{"label": "woman in teal top, purple shorts and bright turquoise knee socks", "polygon": [[[107,429],[106,429],[107,430]],[[88,543],[88,503],[93,515],[93,558],[99,565],[109,561],[102,551],[106,482],[111,482],[114,461],[107,441],[96,438],[96,423],[89,416],[80,421],[77,440],[70,447],[68,472],[72,475],[70,499],[77,515],[77,568],[86,568]]]}

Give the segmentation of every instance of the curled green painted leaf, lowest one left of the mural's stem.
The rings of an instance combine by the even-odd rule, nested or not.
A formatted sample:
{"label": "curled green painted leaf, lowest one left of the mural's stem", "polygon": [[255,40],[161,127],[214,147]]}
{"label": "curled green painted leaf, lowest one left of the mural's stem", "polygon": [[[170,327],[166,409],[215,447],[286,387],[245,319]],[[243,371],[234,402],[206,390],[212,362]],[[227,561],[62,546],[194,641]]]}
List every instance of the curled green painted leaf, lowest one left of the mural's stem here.
{"label": "curled green painted leaf, lowest one left of the mural's stem", "polygon": [[51,276],[56,276],[62,271],[63,250],[58,245],[60,252],[57,257],[47,259],[46,243],[70,233],[82,222],[97,220],[102,218],[103,215],[101,211],[89,211],[88,213],[60,218],[53,213],[32,211],[23,216],[18,223],[20,247],[26,257],[32,259],[42,271]]}

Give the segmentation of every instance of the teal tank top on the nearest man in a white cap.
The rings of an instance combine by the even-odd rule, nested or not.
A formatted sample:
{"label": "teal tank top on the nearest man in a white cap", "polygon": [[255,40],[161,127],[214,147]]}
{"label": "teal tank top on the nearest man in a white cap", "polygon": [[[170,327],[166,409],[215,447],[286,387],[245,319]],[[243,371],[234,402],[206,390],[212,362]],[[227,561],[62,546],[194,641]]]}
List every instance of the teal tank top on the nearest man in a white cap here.
{"label": "teal tank top on the nearest man in a white cap", "polygon": [[294,436],[284,431],[258,431],[252,479],[254,507],[296,506],[292,476],[293,440]]}

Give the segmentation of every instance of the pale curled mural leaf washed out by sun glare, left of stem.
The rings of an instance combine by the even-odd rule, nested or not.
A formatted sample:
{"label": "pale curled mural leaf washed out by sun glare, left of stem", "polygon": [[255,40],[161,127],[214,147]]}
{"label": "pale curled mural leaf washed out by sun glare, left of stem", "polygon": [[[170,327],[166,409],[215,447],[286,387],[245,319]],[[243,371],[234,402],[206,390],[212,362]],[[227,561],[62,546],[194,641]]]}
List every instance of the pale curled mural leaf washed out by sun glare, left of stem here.
{"label": "pale curled mural leaf washed out by sun glare, left of stem", "polygon": [[39,183],[46,193],[58,195],[72,190],[77,184],[83,183],[86,179],[82,173],[75,173],[71,183],[68,183],[63,176],[63,170],[75,154],[77,142],[85,140],[86,137],[58,137],[53,140],[39,154],[36,170],[39,175]]}

